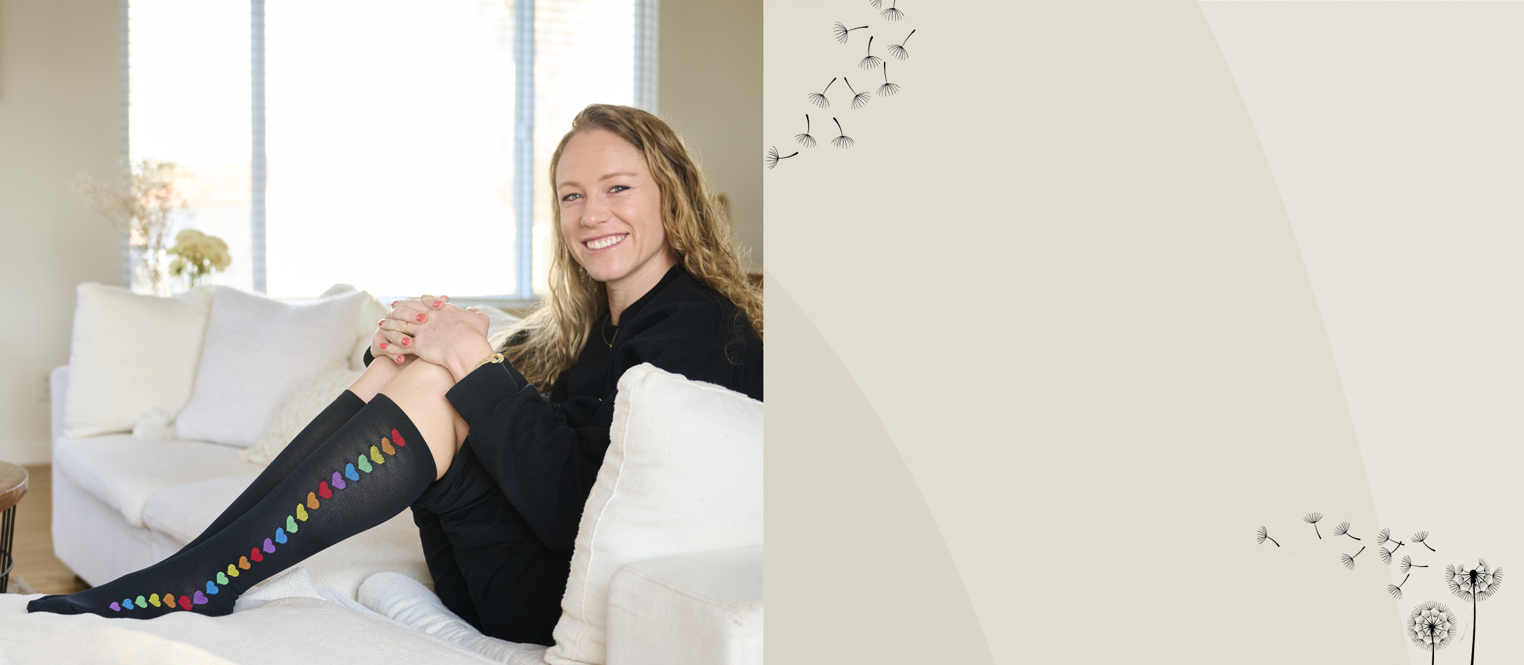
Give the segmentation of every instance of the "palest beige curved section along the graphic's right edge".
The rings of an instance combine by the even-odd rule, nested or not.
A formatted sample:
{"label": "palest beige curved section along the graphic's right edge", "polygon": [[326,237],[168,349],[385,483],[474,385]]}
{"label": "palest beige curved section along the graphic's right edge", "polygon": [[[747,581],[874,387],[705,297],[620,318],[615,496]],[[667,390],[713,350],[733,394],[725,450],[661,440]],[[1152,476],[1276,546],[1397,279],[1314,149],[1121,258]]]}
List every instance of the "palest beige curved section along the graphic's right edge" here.
{"label": "palest beige curved section along the graphic's right edge", "polygon": [[[1477,557],[1516,573],[1524,508],[1524,3],[1204,3],[1295,229],[1381,526],[1430,531],[1401,618]],[[1410,543],[1411,545],[1411,543]],[[1404,575],[1390,570],[1393,584]],[[1524,595],[1477,607],[1524,653]],[[1408,650],[1414,663],[1428,654]],[[1439,660],[1469,657],[1440,653]]]}

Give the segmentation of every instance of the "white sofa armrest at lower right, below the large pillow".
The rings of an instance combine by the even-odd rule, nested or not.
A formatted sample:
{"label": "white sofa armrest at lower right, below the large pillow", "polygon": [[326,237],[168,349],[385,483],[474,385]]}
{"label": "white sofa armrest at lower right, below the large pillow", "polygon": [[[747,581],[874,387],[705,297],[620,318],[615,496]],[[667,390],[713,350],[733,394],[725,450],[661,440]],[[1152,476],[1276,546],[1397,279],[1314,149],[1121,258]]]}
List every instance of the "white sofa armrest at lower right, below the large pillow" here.
{"label": "white sofa armrest at lower right, below the large pillow", "polygon": [[608,589],[608,665],[762,665],[762,548],[631,563]]}

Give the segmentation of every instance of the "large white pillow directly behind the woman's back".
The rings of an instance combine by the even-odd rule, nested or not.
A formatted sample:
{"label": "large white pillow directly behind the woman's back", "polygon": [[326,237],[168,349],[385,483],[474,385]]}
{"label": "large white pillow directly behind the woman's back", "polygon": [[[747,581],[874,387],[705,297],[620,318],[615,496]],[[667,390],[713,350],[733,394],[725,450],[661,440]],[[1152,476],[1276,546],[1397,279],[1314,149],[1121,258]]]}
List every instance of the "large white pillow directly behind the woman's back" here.
{"label": "large white pillow directly behind the woman's back", "polygon": [[607,662],[608,587],[622,566],[760,545],[762,403],[651,363],[631,368],[546,662]]}

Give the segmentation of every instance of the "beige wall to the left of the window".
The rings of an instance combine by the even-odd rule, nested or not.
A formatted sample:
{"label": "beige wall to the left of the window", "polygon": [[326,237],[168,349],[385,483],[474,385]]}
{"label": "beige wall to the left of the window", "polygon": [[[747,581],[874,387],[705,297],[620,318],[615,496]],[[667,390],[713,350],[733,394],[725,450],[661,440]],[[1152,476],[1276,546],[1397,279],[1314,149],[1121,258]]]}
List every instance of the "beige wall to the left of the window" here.
{"label": "beige wall to the left of the window", "polygon": [[3,461],[49,461],[46,377],[69,363],[75,285],[120,281],[119,236],[69,188],[116,172],[117,50],[113,0],[0,0]]}

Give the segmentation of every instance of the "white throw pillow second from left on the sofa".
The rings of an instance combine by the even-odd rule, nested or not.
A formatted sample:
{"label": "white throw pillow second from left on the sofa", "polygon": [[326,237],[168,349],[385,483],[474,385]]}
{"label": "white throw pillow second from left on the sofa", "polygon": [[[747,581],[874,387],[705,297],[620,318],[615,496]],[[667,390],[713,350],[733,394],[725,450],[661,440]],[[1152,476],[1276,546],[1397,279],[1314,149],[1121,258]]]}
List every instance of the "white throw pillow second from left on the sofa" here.
{"label": "white throw pillow second from left on the sofa", "polygon": [[347,363],[366,291],[290,305],[216,287],[181,438],[253,445],[287,395],[331,363]]}

